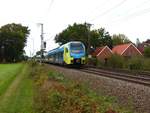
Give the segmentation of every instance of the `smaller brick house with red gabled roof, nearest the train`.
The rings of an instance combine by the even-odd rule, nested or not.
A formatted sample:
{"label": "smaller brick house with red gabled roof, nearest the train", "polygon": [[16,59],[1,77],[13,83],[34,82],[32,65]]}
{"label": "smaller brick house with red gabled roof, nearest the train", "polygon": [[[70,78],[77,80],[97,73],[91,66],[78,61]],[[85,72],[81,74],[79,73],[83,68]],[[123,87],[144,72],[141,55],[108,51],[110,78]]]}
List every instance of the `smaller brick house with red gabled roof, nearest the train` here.
{"label": "smaller brick house with red gabled roof, nearest the train", "polygon": [[98,60],[107,62],[107,59],[112,55],[112,50],[108,46],[96,48],[92,53],[92,56],[96,57]]}

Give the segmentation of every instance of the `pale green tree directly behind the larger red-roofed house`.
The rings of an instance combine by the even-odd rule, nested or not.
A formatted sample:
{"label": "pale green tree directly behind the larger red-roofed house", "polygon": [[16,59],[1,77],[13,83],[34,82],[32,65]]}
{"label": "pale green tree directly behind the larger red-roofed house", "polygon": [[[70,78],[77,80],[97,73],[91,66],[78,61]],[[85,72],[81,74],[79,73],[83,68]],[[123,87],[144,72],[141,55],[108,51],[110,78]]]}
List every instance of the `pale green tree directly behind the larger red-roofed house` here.
{"label": "pale green tree directly behind the larger red-roofed house", "polygon": [[126,37],[124,34],[114,34],[112,36],[113,46],[119,45],[119,44],[126,44],[130,43],[131,41]]}

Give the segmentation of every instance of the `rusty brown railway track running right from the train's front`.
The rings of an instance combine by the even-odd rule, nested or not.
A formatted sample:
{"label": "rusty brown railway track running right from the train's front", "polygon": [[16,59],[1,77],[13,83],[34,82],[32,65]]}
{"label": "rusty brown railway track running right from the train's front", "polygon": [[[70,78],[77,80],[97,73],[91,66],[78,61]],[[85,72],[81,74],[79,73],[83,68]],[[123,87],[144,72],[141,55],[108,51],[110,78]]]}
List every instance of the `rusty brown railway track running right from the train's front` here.
{"label": "rusty brown railway track running right from the train's front", "polygon": [[105,76],[105,77],[115,78],[115,79],[124,80],[128,82],[133,82],[137,84],[142,84],[150,87],[150,76],[148,75],[145,76],[141,74],[139,76],[139,75],[132,75],[132,74],[113,72],[113,71],[97,69],[97,68],[87,68],[87,67],[81,68],[80,71],[96,74],[99,76]]}

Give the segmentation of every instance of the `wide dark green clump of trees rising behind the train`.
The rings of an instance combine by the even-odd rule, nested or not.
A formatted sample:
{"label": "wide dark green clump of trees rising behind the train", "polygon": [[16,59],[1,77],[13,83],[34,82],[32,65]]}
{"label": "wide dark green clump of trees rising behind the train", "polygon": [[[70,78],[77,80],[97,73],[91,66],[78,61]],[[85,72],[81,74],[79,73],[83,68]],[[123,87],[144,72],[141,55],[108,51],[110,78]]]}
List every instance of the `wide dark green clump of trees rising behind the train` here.
{"label": "wide dark green clump of trees rising behind the train", "polygon": [[68,26],[65,30],[55,36],[56,43],[60,45],[65,44],[69,41],[82,41],[86,48],[88,47],[99,47],[108,45],[112,47],[112,39],[108,32],[104,28],[98,30],[90,30],[88,23],[76,24]]}

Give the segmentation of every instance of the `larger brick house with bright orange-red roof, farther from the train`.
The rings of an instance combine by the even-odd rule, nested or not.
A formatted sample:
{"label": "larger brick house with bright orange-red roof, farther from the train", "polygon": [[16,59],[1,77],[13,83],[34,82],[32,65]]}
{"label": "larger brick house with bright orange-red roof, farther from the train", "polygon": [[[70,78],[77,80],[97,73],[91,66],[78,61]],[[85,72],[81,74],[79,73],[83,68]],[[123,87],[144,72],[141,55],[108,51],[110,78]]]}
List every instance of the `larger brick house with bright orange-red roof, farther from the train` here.
{"label": "larger brick house with bright orange-red roof, farther from the train", "polygon": [[113,47],[112,52],[127,58],[142,55],[142,53],[132,43],[117,45]]}

